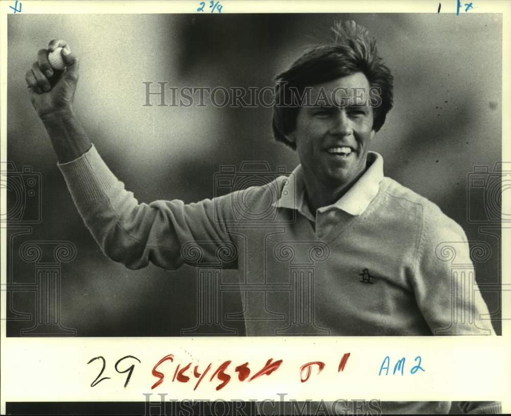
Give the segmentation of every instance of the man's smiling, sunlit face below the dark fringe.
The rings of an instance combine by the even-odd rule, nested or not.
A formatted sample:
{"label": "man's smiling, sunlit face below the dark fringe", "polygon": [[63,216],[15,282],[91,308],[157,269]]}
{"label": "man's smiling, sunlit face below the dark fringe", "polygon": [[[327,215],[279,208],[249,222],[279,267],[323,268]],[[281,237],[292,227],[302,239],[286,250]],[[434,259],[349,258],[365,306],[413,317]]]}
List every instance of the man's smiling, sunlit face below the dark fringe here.
{"label": "man's smiling, sunlit face below the dark fringe", "polygon": [[[368,91],[362,72],[312,88],[311,105],[298,110],[296,128],[287,136],[296,143],[307,186],[336,190],[351,185],[364,172],[375,135]],[[319,100],[320,106],[314,106],[318,94],[329,97],[330,103]]]}

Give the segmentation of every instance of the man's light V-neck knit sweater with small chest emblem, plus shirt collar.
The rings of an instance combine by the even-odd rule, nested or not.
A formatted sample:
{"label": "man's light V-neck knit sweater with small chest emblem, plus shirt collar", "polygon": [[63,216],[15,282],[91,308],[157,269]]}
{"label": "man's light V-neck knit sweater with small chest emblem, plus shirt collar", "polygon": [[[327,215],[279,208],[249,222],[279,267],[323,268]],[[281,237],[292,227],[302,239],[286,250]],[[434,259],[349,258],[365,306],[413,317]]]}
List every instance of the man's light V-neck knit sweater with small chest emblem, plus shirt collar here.
{"label": "man's light V-neck knit sweater with small chest emblem, plus shirt collar", "polygon": [[[94,146],[59,167],[87,228],[114,261],[129,268],[238,268],[249,336],[494,334],[481,319],[489,312],[463,230],[384,177],[376,153],[359,181],[316,216],[304,203],[299,167],[289,177],[193,204],[138,204]],[[237,178],[217,179],[236,188]],[[463,406],[500,412],[496,403]],[[383,407],[446,413],[450,402]]]}

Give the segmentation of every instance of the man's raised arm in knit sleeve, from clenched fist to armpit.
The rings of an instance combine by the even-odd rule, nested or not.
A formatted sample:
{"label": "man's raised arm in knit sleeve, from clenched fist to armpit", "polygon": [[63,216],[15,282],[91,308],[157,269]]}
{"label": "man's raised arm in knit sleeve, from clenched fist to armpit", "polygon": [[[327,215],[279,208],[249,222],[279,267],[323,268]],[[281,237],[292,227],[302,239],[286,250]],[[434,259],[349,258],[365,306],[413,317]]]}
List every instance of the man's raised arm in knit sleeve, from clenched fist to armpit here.
{"label": "man's raised arm in knit sleeve, from clenched fist to armpit", "polygon": [[[53,69],[48,61],[48,53],[57,47],[63,47],[63,71]],[[48,50],[39,51],[26,81],[73,201],[108,257],[129,268],[145,267],[151,261],[174,270],[184,263],[181,248],[185,243],[212,241],[221,246],[230,240],[222,222],[223,213],[228,211],[228,198],[188,205],[179,200],[138,204],[133,193],[125,190],[87,138],[73,111],[78,58],[65,41],[53,40]],[[214,244],[210,247],[214,255]]]}

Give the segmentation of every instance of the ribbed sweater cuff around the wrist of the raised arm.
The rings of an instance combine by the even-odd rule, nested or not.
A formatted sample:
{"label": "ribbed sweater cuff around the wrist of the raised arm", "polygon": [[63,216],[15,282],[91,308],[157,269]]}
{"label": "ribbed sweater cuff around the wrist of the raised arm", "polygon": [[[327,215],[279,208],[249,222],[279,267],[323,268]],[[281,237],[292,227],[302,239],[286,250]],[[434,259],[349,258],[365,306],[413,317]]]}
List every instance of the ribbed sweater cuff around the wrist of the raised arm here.
{"label": "ribbed sweater cuff around the wrist of the raised arm", "polygon": [[57,163],[75,202],[93,203],[118,183],[94,144],[78,159]]}

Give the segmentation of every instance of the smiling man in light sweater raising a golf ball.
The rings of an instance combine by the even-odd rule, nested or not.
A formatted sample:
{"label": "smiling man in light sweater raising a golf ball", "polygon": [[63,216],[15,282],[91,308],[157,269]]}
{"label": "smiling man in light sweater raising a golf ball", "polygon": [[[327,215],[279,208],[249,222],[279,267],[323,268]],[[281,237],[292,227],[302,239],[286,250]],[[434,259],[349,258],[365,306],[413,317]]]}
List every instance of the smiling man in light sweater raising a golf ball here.
{"label": "smiling man in light sweater raising a golf ball", "polygon": [[[463,230],[384,177],[382,157],[369,152],[392,107],[392,77],[375,41],[354,22],[334,31],[332,44],[277,77],[273,131],[299,156],[293,174],[195,204],[138,204],[113,176],[73,111],[78,59],[65,41],[50,42],[49,51],[64,47],[67,69],[55,73],[41,50],[26,80],[73,200],[105,254],[130,268],[152,262],[174,270],[196,264],[191,247],[211,261],[228,251],[245,293],[247,335],[493,334],[480,320],[488,310],[478,292],[452,301],[464,281],[453,278],[443,249],[458,243],[457,258],[471,264]],[[292,264],[308,267],[293,274]],[[271,290],[289,285],[300,288],[291,299]],[[454,320],[459,311],[470,319]],[[384,410],[445,413],[449,406],[388,403]],[[500,411],[494,403],[464,410]]]}

